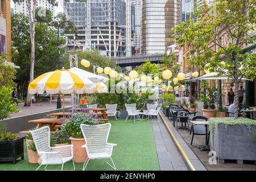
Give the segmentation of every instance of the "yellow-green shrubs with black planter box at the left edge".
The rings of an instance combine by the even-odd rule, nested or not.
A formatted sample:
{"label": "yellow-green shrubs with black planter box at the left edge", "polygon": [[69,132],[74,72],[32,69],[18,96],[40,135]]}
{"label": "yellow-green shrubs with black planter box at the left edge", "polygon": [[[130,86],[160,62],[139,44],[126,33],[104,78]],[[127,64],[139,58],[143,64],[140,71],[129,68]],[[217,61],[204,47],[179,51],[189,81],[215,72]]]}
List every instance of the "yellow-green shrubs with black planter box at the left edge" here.
{"label": "yellow-green shrubs with black planter box at the left edge", "polygon": [[18,107],[13,103],[10,86],[2,86],[2,76],[0,73],[0,161],[12,161],[24,159],[23,137],[18,137],[14,133],[7,132],[5,122],[2,120],[9,117],[11,113],[18,113]]}

